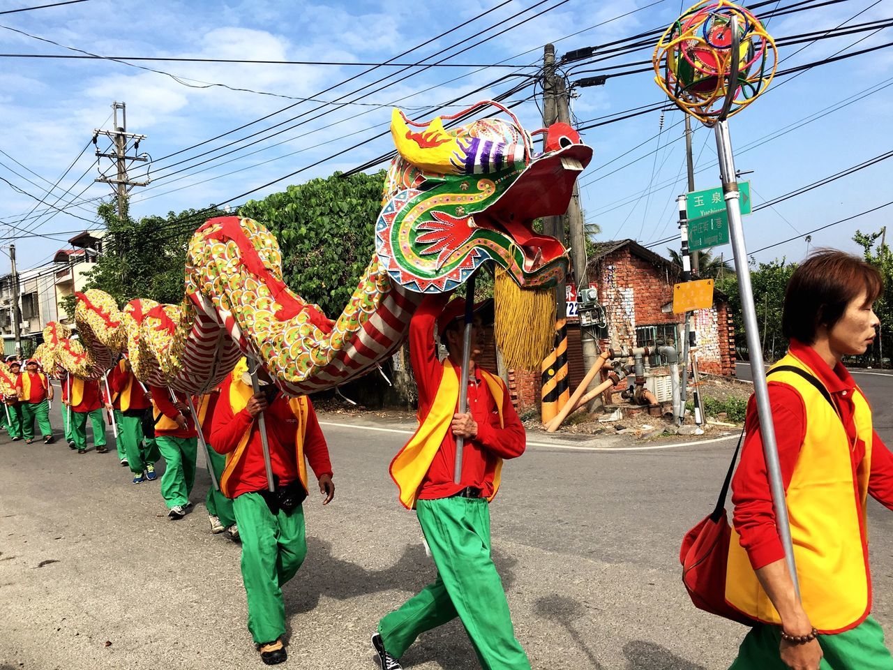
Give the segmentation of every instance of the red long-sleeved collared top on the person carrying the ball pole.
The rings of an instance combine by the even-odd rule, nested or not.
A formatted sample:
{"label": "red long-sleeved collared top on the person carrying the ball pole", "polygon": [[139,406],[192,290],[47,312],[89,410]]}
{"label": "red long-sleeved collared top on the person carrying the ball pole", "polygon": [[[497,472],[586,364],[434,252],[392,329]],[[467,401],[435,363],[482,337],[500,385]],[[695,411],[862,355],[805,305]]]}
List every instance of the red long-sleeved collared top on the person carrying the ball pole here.
{"label": "red long-sleeved collared top on the person carrying the ball pole", "polygon": [[[831,370],[814,348],[796,339],[790,342],[790,353],[818,373],[819,381],[830,391],[831,398],[838,406],[847,434],[850,440],[855,440],[855,446],[850,450],[855,476],[855,471],[865,456],[865,444],[856,439],[853,422],[852,396],[855,381],[842,364],[837,364]],[[772,404],[772,423],[775,424],[781,477],[787,491],[805,438],[806,408],[796,390],[786,384],[773,382],[772,377],[769,377],[769,400]],[[747,404],[746,426],[747,435],[741,450],[741,462],[731,482],[732,503],[735,505],[732,521],[741,536],[741,546],[747,550],[751,566],[758,570],[784,558],[784,549],[775,526],[772,493],[769,490],[763,456],[763,436],[759,430],[754,398],[750,398]],[[893,509],[893,455],[880,440],[877,431],[872,440],[871,460],[868,492],[872,498]]]}

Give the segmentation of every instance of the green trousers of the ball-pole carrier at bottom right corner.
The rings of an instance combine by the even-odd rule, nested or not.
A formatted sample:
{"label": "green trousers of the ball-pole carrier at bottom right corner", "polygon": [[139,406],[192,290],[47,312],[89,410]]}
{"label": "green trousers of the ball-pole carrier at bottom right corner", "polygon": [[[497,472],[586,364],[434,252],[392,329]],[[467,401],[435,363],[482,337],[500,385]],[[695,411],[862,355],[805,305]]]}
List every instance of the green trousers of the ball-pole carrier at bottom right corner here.
{"label": "green trousers of the ball-pole carrier at bottom right corner", "polygon": [[[741,642],[729,670],[787,670],[781,662],[778,626],[759,625]],[[893,657],[884,645],[884,632],[871,616],[847,632],[819,635],[825,656],[822,670],[893,670]]]}

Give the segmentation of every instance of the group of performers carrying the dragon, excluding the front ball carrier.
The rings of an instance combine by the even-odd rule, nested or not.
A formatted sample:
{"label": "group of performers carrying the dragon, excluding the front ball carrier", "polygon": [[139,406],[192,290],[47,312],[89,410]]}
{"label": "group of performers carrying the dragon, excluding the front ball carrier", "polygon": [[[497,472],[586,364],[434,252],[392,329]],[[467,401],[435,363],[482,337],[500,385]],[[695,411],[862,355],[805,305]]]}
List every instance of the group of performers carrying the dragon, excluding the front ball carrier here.
{"label": "group of performers carrying the dragon, excluding the front ball carrier", "polygon": [[[426,297],[410,324],[413,372],[419,386],[420,426],[391,464],[400,502],[415,509],[438,574],[434,582],[402,607],[384,616],[371,638],[383,670],[399,670],[405,650],[422,633],[459,616],[485,668],[530,670],[515,639],[502,582],[490,557],[489,501],[499,487],[503,458],[520,456],[523,425],[505,382],[475,365],[484,345],[483,322],[492,319],[492,301],[475,306],[467,413],[457,413],[464,339],[465,302],[448,295]],[[437,333],[447,357],[438,357]],[[13,440],[33,441],[37,418],[44,441],[53,441],[49,403],[53,386],[38,361],[21,373],[9,361],[4,423]],[[201,397],[144,386],[126,357],[105,380],[88,381],[51,371],[62,389],[65,440],[87,451],[92,422],[97,453],[107,451],[104,412],[113,414],[118,456],[133,483],[156,478],[163,458],[161,493],[171,520],[192,507],[196,455],[202,440],[214,479],[205,498],[211,532],[226,534],[242,547],[241,571],[247,599],[247,625],[267,665],[286,660],[282,587],[295,576],[307,547],[302,503],[310,491],[306,465],[316,476],[323,505],[335,496],[329,449],[310,398],[291,398],[256,371],[255,393],[248,362]],[[269,490],[258,416],[263,413],[274,490]],[[8,418],[7,418],[8,417]],[[196,425],[197,423],[197,425]],[[455,437],[464,440],[463,465],[455,482]],[[218,490],[219,488],[219,490]]]}

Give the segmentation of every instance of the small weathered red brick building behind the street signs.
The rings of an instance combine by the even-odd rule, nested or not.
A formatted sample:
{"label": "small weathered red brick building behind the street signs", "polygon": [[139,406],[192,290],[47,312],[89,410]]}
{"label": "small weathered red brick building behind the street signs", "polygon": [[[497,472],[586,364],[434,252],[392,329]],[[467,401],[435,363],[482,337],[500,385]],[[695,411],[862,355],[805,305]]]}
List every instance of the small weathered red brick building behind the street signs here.
{"label": "small weathered red brick building behind the street signs", "polygon": [[[683,320],[672,313],[673,284],[680,281],[679,265],[655,254],[632,239],[601,242],[588,264],[590,286],[598,290],[598,302],[605,308],[607,333],[599,341],[605,348],[647,347],[655,340],[667,344],[681,342]],[[714,306],[697,310],[692,319],[697,331],[700,370],[704,373],[735,373],[735,343],[728,298],[714,291]],[[568,322],[570,387],[575,389],[586,370],[580,347],[580,326]],[[533,406],[539,399],[539,375],[508,375],[515,406]]]}

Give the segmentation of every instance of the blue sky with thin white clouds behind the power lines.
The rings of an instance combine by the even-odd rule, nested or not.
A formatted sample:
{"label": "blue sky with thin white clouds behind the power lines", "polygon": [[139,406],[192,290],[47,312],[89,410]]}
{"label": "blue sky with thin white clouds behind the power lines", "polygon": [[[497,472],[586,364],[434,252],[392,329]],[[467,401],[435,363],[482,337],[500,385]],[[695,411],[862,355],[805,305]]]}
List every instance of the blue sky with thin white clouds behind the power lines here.
{"label": "blue sky with thin white clouds behind the power lines", "polygon": [[[558,2],[548,0],[534,8],[535,0],[513,0],[486,17],[437,40],[431,38],[497,6],[500,0],[451,3],[430,0],[415,0],[412,3],[395,0],[329,3],[299,0],[241,3],[158,0],[151,4],[128,0],[88,0],[32,12],[0,14],[0,26],[109,56],[380,63],[411,46],[431,40],[413,54],[399,59],[401,63],[407,63],[422,60],[455,42],[462,42],[462,46],[472,45],[480,38],[494,35],[500,29],[532,16],[535,18],[455,56],[447,63],[535,65],[541,61],[542,46],[547,41],[555,42],[560,55],[574,48],[598,45],[643,30],[663,27],[680,13],[680,4],[673,0],[664,0],[635,13],[630,12],[644,7],[648,4],[646,0],[569,0],[552,11],[544,11]],[[808,12],[779,17],[769,22],[769,30],[775,38],[781,38],[810,30],[834,28],[872,3],[873,0],[844,0]],[[0,11],[29,4],[42,3],[4,0],[0,2]],[[783,6],[789,2],[780,0],[780,4]],[[514,13],[528,8],[528,13],[509,19]],[[630,15],[610,21],[624,13]],[[891,15],[893,0],[881,0],[851,23]],[[598,28],[584,30],[604,21],[608,22]],[[584,31],[565,38],[580,30]],[[888,42],[891,32],[893,29],[881,30],[854,49]],[[865,34],[822,40],[791,56],[782,67],[834,54]],[[0,29],[0,40],[0,52],[4,54],[72,53],[8,29]],[[448,53],[453,54],[462,46]],[[784,58],[800,46],[782,48],[780,56]],[[650,55],[651,49],[648,48],[603,64],[630,63],[645,60]],[[181,159],[243,138],[255,130],[263,130],[309,112],[320,103],[300,103],[246,130],[163,159],[166,155],[277,112],[297,101],[221,87],[191,88],[166,75],[110,61],[2,58],[0,63],[3,66],[0,69],[0,122],[4,128],[0,150],[8,155],[0,155],[0,163],[7,166],[0,166],[0,177],[33,195],[43,197],[46,188],[50,187],[48,182],[55,182],[65,172],[88,143],[93,130],[111,128],[108,116],[112,102],[124,101],[127,103],[128,130],[147,136],[139,148],[154,158],[150,172],[153,179],[151,185],[137,188],[133,193],[131,212],[135,215],[167,214],[169,211],[200,208],[210,203],[230,202],[235,205],[240,201],[234,201],[232,197],[326,158],[330,160],[290,180],[264,188],[252,197],[263,197],[285,188],[288,183],[351,169],[387,152],[392,148],[390,138],[377,139],[345,155],[331,156],[386,130],[390,107],[395,101],[400,101],[396,104],[403,106],[412,117],[416,114],[413,108],[436,105],[463,96],[503,74],[535,71],[533,68],[467,67],[432,68],[418,72],[416,68],[382,82],[379,86],[387,83],[388,87],[364,97],[364,105],[340,106],[326,116],[310,121],[313,115],[307,114],[277,130],[306,121],[303,125],[230,155],[221,156],[223,152],[244,147],[253,140],[173,165]],[[170,72],[184,80],[224,83],[233,88],[251,88],[293,97],[315,96],[322,89],[365,69],[355,66],[233,63],[140,64]],[[372,71],[316,98],[333,101],[396,70],[383,68]],[[893,86],[883,88],[855,105],[828,113],[813,123],[797,127],[798,121],[810,114],[819,113],[825,107],[860,91],[871,90],[872,86],[891,78],[893,48],[882,49],[807,71],[778,86],[776,91],[770,90],[764,98],[734,117],[730,121],[730,129],[733,145],[739,149],[736,163],[740,170],[755,171],[747,177],[752,182],[755,205],[893,149],[890,146],[893,144],[893,131],[889,123],[893,112]],[[776,81],[780,84],[783,80]],[[466,96],[462,103],[470,104],[496,96],[508,86],[505,82],[497,84],[484,92]],[[663,96],[648,73],[608,80],[603,87],[579,88],[576,93],[572,113],[580,121],[656,103]],[[510,98],[509,102],[521,100],[530,94],[531,89],[527,88]],[[461,108],[454,105],[449,112],[455,113]],[[323,111],[330,109],[332,107],[328,106]],[[538,107],[533,100],[524,102],[514,111],[528,130],[535,130],[541,125]],[[680,137],[682,125],[677,122],[681,118],[679,111],[666,113],[659,138],[653,136],[660,130],[660,113],[647,113],[584,133],[585,141],[595,147],[596,155],[580,180],[584,185],[582,204],[587,221],[597,223],[602,229],[598,239],[632,238],[647,243],[674,234],[675,197],[685,190],[684,143],[672,142]],[[772,131],[786,129],[791,124],[794,124],[795,130],[744,151],[748,145],[755,144]],[[697,188],[713,187],[719,184],[713,131],[699,127],[697,123],[695,125],[694,153],[700,170],[696,176]],[[648,138],[653,139],[630,155],[613,161]],[[102,144],[100,147],[104,148]],[[658,153],[647,155],[658,147]],[[62,205],[72,195],[88,187],[89,180],[97,176],[96,168],[90,167],[95,160],[92,150],[93,147],[89,147],[72,167],[49,202],[55,202],[64,190],[74,186],[71,194],[60,202]],[[254,153],[248,155],[249,152]],[[642,155],[641,160],[626,166],[626,163]],[[209,158],[214,160],[196,165]],[[26,172],[12,159],[33,172]],[[605,164],[611,161],[613,163]],[[109,166],[108,161],[102,161],[101,167]],[[21,176],[11,172],[10,168]],[[746,217],[748,248],[755,250],[771,245],[887,202],[890,199],[891,168],[893,161],[878,163]],[[173,173],[181,169],[183,172]],[[238,172],[228,174],[234,171]],[[85,172],[84,178],[75,184]],[[144,172],[145,168],[136,167],[131,176],[138,177]],[[25,178],[35,183],[31,184]],[[649,188],[650,184],[662,188]],[[35,204],[34,199],[3,182],[0,182],[0,189],[4,195],[3,204],[0,205],[0,221],[15,223]],[[84,198],[102,196],[111,196],[110,188],[104,184],[89,187],[83,195]],[[92,203],[87,203],[81,208],[72,208],[71,212],[91,219],[92,206]],[[891,212],[893,206],[815,233],[811,245],[855,251],[855,245],[850,240],[855,229],[879,230],[888,222]],[[29,220],[17,225],[34,225],[35,231],[58,239],[68,239],[71,237],[70,231],[88,227],[87,222],[67,213],[56,214],[49,221],[46,219]],[[893,230],[890,232],[893,236]],[[4,236],[8,234],[5,232]],[[15,242],[21,267],[24,268],[46,261],[57,248],[66,246],[64,242],[46,238],[16,239]],[[667,246],[669,244],[661,245],[655,250],[665,255]],[[797,239],[758,253],[756,258],[766,261],[785,255],[789,260],[798,260],[805,255],[805,251],[805,240]],[[716,249],[717,254],[723,252],[730,255],[730,247]]]}

